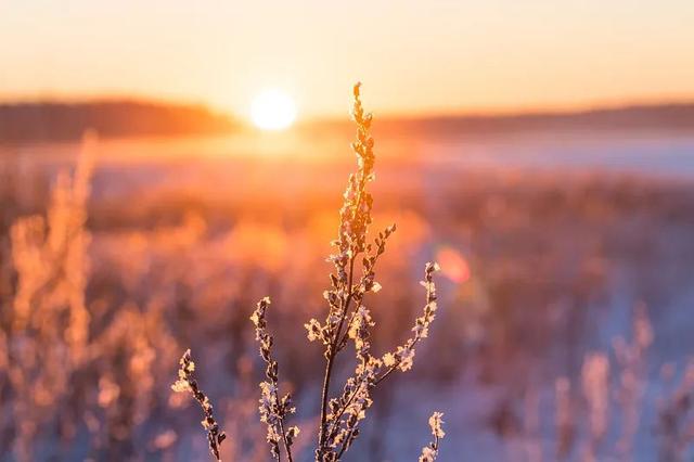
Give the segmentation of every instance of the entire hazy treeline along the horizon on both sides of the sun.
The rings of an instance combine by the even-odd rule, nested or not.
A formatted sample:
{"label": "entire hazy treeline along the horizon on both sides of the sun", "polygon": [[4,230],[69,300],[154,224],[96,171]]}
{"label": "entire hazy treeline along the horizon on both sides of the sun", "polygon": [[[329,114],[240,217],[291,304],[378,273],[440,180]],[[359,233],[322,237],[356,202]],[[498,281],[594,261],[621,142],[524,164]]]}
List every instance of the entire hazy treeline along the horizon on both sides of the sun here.
{"label": "entire hazy treeline along the horizon on both sides of the sun", "polygon": [[[346,119],[304,124],[330,134],[351,132]],[[0,103],[0,142],[76,140],[88,129],[101,137],[174,137],[228,133],[241,128],[204,105],[139,101]],[[596,108],[569,113],[376,118],[382,134],[486,134],[556,130],[692,130],[694,103]]]}

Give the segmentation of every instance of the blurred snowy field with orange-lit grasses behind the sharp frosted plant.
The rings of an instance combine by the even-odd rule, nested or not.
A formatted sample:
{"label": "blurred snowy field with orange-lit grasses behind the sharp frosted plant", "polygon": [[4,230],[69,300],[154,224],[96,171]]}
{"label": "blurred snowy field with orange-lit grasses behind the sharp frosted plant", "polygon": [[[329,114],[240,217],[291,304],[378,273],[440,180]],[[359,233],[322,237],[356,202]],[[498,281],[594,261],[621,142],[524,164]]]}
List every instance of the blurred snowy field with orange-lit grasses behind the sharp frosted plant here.
{"label": "blurred snowy field with orange-lit grasses behind the sharp frosted plant", "polygon": [[[396,221],[398,232],[371,303],[382,325],[376,347],[404,338],[425,261],[452,254],[464,270],[445,268],[432,337],[414,370],[376,394],[348,460],[415,460],[433,410],[446,413],[441,461],[673,460],[668,445],[690,460],[689,408],[674,406],[681,434],[669,426],[666,436],[677,444],[660,431],[694,356],[694,136],[525,133],[377,146],[376,223]],[[69,165],[76,146],[0,151],[7,230],[44,207],[56,167]],[[79,376],[75,389],[93,392],[74,407],[75,432],[55,429],[57,413],[39,426],[37,460],[205,460],[198,410],[168,388],[188,347],[222,426],[232,439],[234,428],[247,437],[237,460],[254,460],[248,421],[256,424],[260,371],[248,369],[259,364],[247,317],[266,294],[277,300],[271,329],[299,419],[314,415],[321,357],[303,323],[323,308],[323,259],[350,163],[346,144],[301,137],[103,141],[88,222],[92,335],[119,312],[157,312],[142,339],[156,360],[141,389],[128,385],[128,372],[108,371],[142,351],[125,346],[128,335],[117,341],[120,354]],[[638,341],[639,313],[653,339],[625,363],[616,338]],[[591,352],[607,360],[605,376],[584,368]],[[99,397],[104,375],[120,390],[111,401]],[[564,408],[560,380],[568,384]],[[631,400],[625,384],[633,384]],[[9,450],[16,423],[2,426]],[[66,446],[54,445],[59,434]]]}

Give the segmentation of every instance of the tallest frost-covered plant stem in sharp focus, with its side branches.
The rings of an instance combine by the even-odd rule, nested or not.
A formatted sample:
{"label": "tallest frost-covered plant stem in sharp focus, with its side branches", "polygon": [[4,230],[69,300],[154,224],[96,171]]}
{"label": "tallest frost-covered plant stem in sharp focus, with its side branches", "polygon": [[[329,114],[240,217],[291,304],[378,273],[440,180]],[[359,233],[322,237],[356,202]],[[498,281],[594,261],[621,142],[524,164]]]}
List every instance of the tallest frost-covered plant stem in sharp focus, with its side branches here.
{"label": "tallest frost-covered plant stem in sharp focus, with its side branches", "polygon": [[[375,281],[375,267],[396,228],[394,224],[380,232],[373,244],[368,241],[373,197],[367,187],[374,179],[375,162],[371,137],[372,116],[364,113],[361,105],[360,84],[354,90],[352,116],[357,124],[357,140],[352,143],[352,150],[357,154],[358,169],[349,177],[339,213],[337,239],[332,242],[336,253],[329,260],[335,271],[330,274],[331,287],[324,292],[327,315],[322,323],[311,319],[306,324],[309,341],[322,343],[325,357],[316,449],[316,460],[321,462],[339,460],[349,449],[359,435],[359,423],[372,405],[373,389],[393,372],[404,372],[412,368],[415,346],[428,335],[437,309],[433,274],[438,270],[438,265],[427,264],[422,281],[426,290],[426,303],[423,315],[412,328],[412,337],[381,357],[372,355],[370,337],[375,322],[364,305],[364,296],[381,290],[381,284]],[[331,398],[335,360],[348,341],[354,343],[357,365],[342,393]]]}

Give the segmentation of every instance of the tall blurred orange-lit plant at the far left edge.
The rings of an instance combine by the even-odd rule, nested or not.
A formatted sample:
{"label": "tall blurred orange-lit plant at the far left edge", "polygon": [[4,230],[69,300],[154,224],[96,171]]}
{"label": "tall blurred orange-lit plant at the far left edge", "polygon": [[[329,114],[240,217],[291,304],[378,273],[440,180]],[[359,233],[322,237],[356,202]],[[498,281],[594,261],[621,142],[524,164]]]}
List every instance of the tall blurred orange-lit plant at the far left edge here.
{"label": "tall blurred orange-lit plant at the far left edge", "polygon": [[17,423],[20,460],[33,459],[35,437],[53,419],[67,434],[77,424],[66,398],[89,355],[85,222],[93,142],[86,136],[73,176],[59,174],[47,216],[20,218],[10,229],[16,292],[12,309],[4,311],[2,363],[13,401],[3,412]]}

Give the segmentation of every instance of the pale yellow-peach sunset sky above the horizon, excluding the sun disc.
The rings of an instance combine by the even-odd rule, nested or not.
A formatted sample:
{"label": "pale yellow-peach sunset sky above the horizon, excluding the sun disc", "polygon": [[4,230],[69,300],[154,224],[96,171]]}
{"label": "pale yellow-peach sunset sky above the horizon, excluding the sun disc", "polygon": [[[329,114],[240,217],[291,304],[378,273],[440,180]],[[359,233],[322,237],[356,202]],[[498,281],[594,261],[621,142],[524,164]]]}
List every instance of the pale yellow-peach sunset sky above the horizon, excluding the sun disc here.
{"label": "pale yellow-peach sunset sky above the horizon, excluding the sun disc", "polygon": [[144,97],[299,116],[694,100],[692,0],[0,0],[0,100]]}

